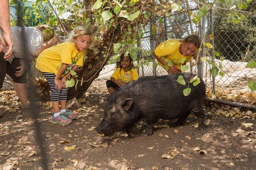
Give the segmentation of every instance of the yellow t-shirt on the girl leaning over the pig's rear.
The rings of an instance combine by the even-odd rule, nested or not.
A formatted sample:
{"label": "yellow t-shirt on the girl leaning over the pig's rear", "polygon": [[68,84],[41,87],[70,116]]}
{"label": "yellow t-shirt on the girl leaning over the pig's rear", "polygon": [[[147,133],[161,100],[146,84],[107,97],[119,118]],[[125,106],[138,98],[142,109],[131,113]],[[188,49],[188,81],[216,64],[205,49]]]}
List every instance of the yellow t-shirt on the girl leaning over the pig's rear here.
{"label": "yellow t-shirt on the girl leaning over the pig's rear", "polygon": [[[181,63],[180,60],[185,56],[180,54],[179,47],[181,42],[176,39],[169,39],[160,43],[155,49],[155,54],[159,58],[165,58],[165,60],[170,60],[173,64],[177,65],[177,68],[180,69]],[[185,64],[188,63],[191,59],[191,56],[186,56]],[[157,63],[163,67],[159,61]]]}

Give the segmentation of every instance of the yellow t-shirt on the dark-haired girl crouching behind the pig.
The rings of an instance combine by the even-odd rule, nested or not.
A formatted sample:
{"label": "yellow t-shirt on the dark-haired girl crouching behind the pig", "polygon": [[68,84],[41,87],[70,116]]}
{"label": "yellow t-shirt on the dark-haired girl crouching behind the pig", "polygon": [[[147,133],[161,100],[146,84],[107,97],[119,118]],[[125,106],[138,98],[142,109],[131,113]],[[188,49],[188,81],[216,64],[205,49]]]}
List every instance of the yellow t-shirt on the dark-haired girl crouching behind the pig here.
{"label": "yellow t-shirt on the dark-haired girl crouching behind the pig", "polygon": [[138,72],[136,69],[128,70],[128,72],[125,72],[123,69],[120,71],[120,67],[117,67],[117,69],[113,72],[111,77],[115,78],[116,81],[124,81],[126,83],[137,80],[139,78]]}

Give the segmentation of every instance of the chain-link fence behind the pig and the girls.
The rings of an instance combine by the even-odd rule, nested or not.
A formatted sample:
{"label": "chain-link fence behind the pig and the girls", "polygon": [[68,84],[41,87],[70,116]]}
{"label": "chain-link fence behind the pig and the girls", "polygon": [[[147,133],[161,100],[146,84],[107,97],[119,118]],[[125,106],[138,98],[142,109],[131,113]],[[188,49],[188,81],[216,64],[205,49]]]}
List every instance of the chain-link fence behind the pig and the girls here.
{"label": "chain-link fence behind the pig and the girls", "polygon": [[[201,18],[198,24],[191,20],[191,14],[198,12],[198,5],[192,0],[183,0],[182,10],[172,12],[168,17],[154,17],[145,26],[143,38],[141,39],[142,50],[138,52],[138,58],[153,58],[148,56],[148,51],[154,49],[164,40],[170,38],[184,39],[188,35],[196,34],[204,42],[212,43],[213,48],[204,48],[198,55],[198,61],[188,63],[190,70],[187,72],[198,74],[207,85],[207,96],[220,100],[235,101],[239,103],[255,104],[256,94],[251,92],[247,86],[247,81],[255,81],[256,69],[245,68],[248,61],[256,58],[256,13],[247,15],[247,18],[240,20],[238,24],[232,22],[232,12],[229,9],[237,4],[236,0],[227,0],[217,4],[223,9],[213,8],[208,11],[207,16]],[[255,11],[256,0],[253,0],[247,11]],[[13,11],[12,7],[11,12]],[[11,14],[14,16],[14,14]],[[160,15],[161,16],[161,15]],[[212,39],[213,37],[213,39]],[[200,58],[220,53],[225,58],[215,58],[215,63],[219,66],[224,76],[212,77],[209,70],[212,65],[204,62]],[[109,79],[116,64],[106,65],[100,72],[97,79]],[[33,72],[37,70],[32,67]],[[138,69],[140,77],[151,75],[166,75],[167,72],[160,66],[153,67],[153,63],[143,65]],[[12,88],[8,77],[3,88]]]}

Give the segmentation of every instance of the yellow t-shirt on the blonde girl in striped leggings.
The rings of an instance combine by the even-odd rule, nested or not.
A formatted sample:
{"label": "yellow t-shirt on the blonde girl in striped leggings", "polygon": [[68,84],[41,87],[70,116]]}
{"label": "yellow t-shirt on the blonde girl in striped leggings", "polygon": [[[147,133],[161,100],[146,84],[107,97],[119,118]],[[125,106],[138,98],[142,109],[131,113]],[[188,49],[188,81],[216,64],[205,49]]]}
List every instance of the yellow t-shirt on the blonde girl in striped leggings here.
{"label": "yellow t-shirt on the blonde girl in striped leggings", "polygon": [[64,42],[45,49],[38,56],[35,67],[41,72],[57,75],[62,63],[83,66],[85,51],[78,51],[74,43]]}

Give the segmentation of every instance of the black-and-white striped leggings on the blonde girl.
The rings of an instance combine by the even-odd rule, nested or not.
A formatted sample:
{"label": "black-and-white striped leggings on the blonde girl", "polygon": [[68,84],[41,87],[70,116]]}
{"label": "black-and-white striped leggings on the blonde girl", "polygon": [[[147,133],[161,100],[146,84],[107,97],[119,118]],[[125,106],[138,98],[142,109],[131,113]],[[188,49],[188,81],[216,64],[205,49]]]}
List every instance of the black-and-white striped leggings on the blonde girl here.
{"label": "black-and-white striped leggings on the blonde girl", "polygon": [[55,74],[49,72],[42,72],[48,84],[51,87],[51,102],[67,101],[67,88],[62,88],[60,91],[55,89]]}

